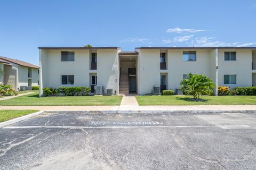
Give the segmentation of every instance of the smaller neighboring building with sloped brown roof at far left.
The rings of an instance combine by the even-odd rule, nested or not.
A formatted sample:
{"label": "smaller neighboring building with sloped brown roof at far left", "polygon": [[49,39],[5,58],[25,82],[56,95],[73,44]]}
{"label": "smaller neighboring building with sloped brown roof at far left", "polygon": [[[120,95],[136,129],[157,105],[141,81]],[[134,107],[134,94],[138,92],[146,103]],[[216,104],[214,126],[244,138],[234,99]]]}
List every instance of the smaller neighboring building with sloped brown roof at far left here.
{"label": "smaller neighboring building with sloped brown roof at far left", "polygon": [[0,75],[0,83],[4,85],[10,84],[15,90],[20,90],[22,86],[39,85],[39,67],[37,65],[0,56],[0,67],[3,70],[3,75]]}

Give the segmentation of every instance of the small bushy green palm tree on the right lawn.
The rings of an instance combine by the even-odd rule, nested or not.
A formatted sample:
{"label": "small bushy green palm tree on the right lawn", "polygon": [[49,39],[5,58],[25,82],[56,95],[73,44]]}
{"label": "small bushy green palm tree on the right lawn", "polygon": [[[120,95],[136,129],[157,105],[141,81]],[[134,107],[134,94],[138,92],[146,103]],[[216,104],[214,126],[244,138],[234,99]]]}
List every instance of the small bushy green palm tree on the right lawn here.
{"label": "small bushy green palm tree on the right lawn", "polygon": [[183,93],[193,95],[194,99],[199,99],[202,94],[211,95],[215,87],[210,78],[191,73],[188,74],[187,79],[181,80],[180,85]]}

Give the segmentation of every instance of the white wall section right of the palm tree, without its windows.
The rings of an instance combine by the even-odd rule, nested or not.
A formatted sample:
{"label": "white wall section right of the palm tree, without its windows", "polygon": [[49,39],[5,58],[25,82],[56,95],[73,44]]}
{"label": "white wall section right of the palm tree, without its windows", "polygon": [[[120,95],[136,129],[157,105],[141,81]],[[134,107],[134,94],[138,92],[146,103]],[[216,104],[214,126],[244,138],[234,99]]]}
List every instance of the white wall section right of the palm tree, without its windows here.
{"label": "white wall section right of the palm tree, without its windows", "polygon": [[[224,61],[224,52],[236,51],[236,61]],[[219,86],[249,87],[252,86],[252,50],[248,49],[219,49]],[[236,84],[224,84],[225,74],[235,74]]]}

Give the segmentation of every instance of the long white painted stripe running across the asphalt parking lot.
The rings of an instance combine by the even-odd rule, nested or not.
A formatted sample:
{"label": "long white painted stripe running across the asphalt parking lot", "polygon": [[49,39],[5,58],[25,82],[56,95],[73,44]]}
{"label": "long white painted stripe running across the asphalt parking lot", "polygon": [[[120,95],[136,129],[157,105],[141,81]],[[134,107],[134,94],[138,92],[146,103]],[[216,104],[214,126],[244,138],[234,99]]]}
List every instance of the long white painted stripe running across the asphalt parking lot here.
{"label": "long white painted stripe running across the asphalt parking lot", "polygon": [[[61,129],[109,129],[109,128],[212,128],[214,125],[195,126],[6,126],[4,129],[61,128]],[[223,128],[250,128],[249,125],[222,125]]]}

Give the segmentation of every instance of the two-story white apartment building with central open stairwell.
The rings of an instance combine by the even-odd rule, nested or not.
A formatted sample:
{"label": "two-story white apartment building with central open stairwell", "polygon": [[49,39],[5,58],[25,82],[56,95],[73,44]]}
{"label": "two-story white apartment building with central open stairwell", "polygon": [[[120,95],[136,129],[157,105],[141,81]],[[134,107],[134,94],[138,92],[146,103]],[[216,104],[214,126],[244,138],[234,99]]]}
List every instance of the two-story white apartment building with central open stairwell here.
{"label": "two-story white apartment building with central open stairwell", "polygon": [[256,47],[39,47],[43,87],[102,85],[116,94],[178,89],[189,72],[218,86],[256,86]]}

